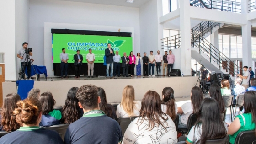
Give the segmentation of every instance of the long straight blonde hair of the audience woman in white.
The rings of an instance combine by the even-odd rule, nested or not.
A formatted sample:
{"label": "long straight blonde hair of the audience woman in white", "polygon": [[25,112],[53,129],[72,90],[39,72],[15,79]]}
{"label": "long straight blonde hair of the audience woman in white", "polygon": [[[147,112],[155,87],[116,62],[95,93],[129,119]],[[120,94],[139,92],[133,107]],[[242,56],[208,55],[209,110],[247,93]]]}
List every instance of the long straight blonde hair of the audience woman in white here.
{"label": "long straight blonde hair of the audience woman in white", "polygon": [[135,94],[134,94],[134,88],[132,85],[127,85],[123,89],[123,94],[122,94],[122,100],[120,106],[123,108],[125,112],[128,113],[128,116],[133,116],[133,109],[135,107]]}

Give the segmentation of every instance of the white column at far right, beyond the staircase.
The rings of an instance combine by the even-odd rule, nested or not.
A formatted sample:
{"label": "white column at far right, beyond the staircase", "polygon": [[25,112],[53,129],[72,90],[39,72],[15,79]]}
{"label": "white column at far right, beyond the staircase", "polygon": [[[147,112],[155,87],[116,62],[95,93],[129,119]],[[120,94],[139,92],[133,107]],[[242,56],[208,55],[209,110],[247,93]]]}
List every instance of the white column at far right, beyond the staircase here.
{"label": "white column at far right, beyond the staircase", "polygon": [[[242,0],[242,14],[248,13],[248,0]],[[246,25],[242,26],[242,43],[243,43],[243,66],[252,66],[251,64],[251,21],[247,21]]]}

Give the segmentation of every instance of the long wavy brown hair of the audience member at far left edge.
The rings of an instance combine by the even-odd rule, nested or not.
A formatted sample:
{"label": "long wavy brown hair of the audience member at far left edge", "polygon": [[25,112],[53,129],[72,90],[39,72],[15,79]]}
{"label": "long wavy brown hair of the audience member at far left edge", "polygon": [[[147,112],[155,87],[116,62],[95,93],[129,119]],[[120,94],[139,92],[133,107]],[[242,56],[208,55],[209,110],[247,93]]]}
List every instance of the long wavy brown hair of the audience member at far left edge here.
{"label": "long wavy brown hair of the audience member at far left edge", "polygon": [[20,128],[20,124],[16,122],[15,116],[12,114],[13,110],[17,107],[16,103],[20,100],[20,95],[16,93],[11,93],[5,96],[0,115],[0,130],[11,132]]}

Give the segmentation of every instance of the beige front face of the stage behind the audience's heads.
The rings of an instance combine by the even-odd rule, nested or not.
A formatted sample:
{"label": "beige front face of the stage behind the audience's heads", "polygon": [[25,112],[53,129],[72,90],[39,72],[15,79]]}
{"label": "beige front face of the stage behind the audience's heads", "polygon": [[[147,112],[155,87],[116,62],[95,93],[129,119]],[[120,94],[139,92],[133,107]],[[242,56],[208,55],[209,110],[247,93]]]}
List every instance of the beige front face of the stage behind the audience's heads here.
{"label": "beige front face of the stage behind the audience's heads", "polygon": [[[197,83],[198,77],[194,76],[149,76],[149,77],[116,77],[105,78],[97,77],[87,78],[81,76],[80,79],[69,77],[61,79],[54,78],[40,78],[40,81],[35,80],[34,88],[38,88],[43,92],[52,92],[56,101],[56,106],[63,106],[67,93],[71,87],[80,87],[81,85],[93,84],[102,87],[106,91],[107,102],[119,103],[122,98],[123,88],[126,85],[133,85],[135,89],[135,99],[142,100],[144,94],[148,90],[154,90],[162,95],[162,90],[165,87],[171,87],[174,90],[174,97],[190,97],[191,89]],[[52,80],[52,81],[51,81]],[[199,83],[197,83],[197,86]],[[8,93],[16,92],[16,82],[3,83],[3,99]]]}

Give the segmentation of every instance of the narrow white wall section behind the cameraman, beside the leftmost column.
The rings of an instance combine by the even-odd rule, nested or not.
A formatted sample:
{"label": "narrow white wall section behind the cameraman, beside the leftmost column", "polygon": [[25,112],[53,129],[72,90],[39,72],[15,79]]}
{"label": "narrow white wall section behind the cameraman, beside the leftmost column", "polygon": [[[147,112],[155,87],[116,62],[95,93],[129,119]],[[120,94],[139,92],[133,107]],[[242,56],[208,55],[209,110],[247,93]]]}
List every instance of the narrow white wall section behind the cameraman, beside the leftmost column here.
{"label": "narrow white wall section behind the cameraman, beside the leftmost column", "polygon": [[[22,43],[29,43],[29,0],[15,0],[15,52],[22,48]],[[16,79],[21,68],[21,59],[16,58]]]}

